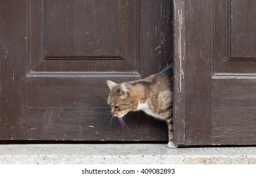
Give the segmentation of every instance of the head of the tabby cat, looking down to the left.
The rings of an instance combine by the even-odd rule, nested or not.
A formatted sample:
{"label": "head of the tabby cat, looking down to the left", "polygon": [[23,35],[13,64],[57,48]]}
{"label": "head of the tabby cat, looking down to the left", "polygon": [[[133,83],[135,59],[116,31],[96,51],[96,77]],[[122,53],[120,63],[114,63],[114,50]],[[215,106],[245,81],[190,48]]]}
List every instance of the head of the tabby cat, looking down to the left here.
{"label": "head of the tabby cat, looking down to the left", "polygon": [[111,107],[111,112],[114,116],[122,118],[129,111],[136,111],[136,90],[126,82],[115,83],[107,80],[106,84],[110,88],[108,95],[108,105]]}

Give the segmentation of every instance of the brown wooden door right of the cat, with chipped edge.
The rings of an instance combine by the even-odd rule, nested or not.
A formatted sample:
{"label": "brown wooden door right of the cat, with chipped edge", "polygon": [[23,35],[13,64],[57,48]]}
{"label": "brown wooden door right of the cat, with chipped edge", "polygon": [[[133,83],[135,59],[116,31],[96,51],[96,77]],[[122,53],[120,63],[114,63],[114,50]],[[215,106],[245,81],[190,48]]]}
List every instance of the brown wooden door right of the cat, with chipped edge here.
{"label": "brown wooden door right of the cat, with chipped edge", "polygon": [[256,144],[256,1],[175,1],[175,141]]}

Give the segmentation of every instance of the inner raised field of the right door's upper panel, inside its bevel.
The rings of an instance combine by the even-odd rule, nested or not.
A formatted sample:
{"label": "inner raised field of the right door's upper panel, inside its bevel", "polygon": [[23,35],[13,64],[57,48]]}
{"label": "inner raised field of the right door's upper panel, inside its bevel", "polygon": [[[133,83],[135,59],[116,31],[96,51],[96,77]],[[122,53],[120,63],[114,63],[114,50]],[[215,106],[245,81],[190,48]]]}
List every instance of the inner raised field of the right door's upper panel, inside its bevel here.
{"label": "inner raised field of the right door's upper panel, inside its bevel", "polygon": [[229,8],[229,58],[232,60],[256,59],[256,1],[231,0]]}

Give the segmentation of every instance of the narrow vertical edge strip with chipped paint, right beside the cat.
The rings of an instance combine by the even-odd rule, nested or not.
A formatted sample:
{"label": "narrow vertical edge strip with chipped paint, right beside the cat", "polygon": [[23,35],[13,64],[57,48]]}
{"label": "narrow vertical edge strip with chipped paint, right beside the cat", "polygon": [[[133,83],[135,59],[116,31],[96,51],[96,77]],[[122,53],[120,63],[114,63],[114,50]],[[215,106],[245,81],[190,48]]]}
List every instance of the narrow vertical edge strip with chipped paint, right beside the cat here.
{"label": "narrow vertical edge strip with chipped paint, right beside the cat", "polygon": [[174,142],[185,143],[185,6],[174,0]]}

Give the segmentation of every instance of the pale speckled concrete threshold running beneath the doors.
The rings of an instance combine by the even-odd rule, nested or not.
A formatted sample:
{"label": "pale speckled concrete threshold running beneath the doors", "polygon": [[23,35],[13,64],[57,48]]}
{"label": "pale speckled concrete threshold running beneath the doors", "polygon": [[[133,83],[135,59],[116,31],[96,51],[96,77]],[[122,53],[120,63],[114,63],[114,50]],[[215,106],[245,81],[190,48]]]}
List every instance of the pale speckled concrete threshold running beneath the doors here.
{"label": "pale speckled concrete threshold running beneath the doors", "polygon": [[256,147],[168,149],[166,144],[0,145],[0,164],[256,164]]}

